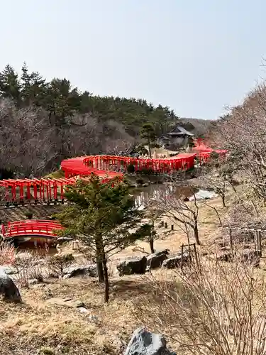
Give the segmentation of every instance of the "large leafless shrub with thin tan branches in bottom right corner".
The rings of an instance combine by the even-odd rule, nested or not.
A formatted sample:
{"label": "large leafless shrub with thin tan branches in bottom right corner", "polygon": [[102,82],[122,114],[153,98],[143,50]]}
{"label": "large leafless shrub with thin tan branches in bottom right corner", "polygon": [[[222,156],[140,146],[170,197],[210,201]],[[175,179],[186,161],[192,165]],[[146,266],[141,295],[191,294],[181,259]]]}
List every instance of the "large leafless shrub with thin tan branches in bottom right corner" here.
{"label": "large leafless shrub with thin tan branches in bottom right corner", "polygon": [[202,260],[171,278],[150,275],[141,322],[202,355],[265,354],[265,278],[239,253],[231,263]]}

